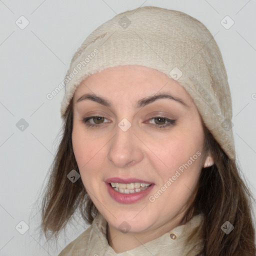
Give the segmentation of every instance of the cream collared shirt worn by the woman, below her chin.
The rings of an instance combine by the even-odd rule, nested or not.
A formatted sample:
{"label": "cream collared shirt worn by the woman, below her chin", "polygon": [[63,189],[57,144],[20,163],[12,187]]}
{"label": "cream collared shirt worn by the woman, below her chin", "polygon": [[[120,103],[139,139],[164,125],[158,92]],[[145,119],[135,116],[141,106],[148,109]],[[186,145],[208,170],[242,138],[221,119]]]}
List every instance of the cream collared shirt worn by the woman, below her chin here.
{"label": "cream collared shirt worn by the woman, below her chin", "polygon": [[[107,222],[98,212],[92,224],[76,239],[71,241],[58,256],[196,256],[202,249],[202,239],[199,229],[203,221],[203,214],[193,216],[187,223],[171,229],[162,236],[148,241],[134,249],[116,253],[109,246],[106,237]],[[186,242],[186,238],[195,230],[196,242]]]}

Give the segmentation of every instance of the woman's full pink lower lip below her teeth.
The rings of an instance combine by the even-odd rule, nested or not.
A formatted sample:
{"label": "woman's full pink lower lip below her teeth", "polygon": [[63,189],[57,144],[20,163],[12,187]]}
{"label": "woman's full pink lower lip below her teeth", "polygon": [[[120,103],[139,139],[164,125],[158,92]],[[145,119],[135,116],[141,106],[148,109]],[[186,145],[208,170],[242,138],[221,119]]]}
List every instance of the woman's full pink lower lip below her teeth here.
{"label": "woman's full pink lower lip below her teeth", "polygon": [[151,191],[154,184],[151,184],[148,188],[141,190],[140,192],[135,192],[131,194],[117,192],[112,188],[111,184],[109,183],[106,183],[106,186],[108,193],[115,201],[122,203],[133,203],[144,198]]}

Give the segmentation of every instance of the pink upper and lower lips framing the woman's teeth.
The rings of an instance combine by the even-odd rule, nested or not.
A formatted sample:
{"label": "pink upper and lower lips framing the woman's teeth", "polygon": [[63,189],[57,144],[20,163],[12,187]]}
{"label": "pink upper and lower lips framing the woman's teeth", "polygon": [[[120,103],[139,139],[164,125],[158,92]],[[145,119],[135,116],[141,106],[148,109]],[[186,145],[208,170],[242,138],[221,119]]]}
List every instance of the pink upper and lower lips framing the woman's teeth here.
{"label": "pink upper and lower lips framing the woman's teeth", "polygon": [[[140,183],[150,183],[151,185],[144,189],[141,190],[140,192],[135,192],[135,193],[131,193],[131,194],[124,194],[124,193],[120,193],[115,191],[110,182],[114,182],[114,183],[133,183],[133,182],[140,182]],[[105,184],[107,187],[107,191],[109,193],[109,195],[117,202],[121,202],[121,203],[133,203],[133,202],[137,202],[139,200],[141,200],[142,198],[144,198],[154,187],[154,184],[152,182],[149,181],[145,181],[145,180],[141,180],[141,179],[135,179],[135,178],[128,178],[128,179],[122,179],[122,178],[117,178],[117,177],[113,177],[113,178],[108,178],[105,180]]]}

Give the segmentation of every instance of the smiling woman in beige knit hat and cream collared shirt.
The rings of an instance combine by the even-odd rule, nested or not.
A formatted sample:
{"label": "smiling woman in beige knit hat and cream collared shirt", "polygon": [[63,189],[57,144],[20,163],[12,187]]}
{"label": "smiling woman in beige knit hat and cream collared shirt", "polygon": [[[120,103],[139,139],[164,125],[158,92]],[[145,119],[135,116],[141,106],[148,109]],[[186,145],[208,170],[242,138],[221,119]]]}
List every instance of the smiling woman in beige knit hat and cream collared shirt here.
{"label": "smiling woman in beige knit hat and cream collared shirt", "polygon": [[43,199],[57,236],[91,224],[63,255],[254,255],[229,86],[198,20],[145,6],[117,14],[74,54],[64,132]]}

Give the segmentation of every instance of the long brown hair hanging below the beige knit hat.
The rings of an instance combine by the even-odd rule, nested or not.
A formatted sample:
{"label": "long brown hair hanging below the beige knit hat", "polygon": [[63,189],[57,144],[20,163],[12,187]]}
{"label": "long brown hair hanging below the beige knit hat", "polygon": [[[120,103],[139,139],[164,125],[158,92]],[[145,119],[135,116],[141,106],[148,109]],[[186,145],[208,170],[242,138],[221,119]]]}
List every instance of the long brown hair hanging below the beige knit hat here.
{"label": "long brown hair hanging below the beige knit hat", "polygon": [[[52,235],[57,238],[76,209],[88,224],[91,224],[97,213],[81,179],[73,183],[67,178],[67,174],[72,169],[79,172],[71,141],[72,111],[71,99],[63,117],[62,139],[51,165],[42,199],[40,228],[46,238]],[[204,214],[201,228],[204,256],[254,256],[251,194],[240,178],[235,160],[228,158],[204,123],[203,128],[204,148],[210,151],[214,164],[202,168],[196,196],[184,219],[188,221],[198,212]],[[234,226],[229,234],[221,230],[225,221],[229,221]]]}

